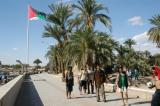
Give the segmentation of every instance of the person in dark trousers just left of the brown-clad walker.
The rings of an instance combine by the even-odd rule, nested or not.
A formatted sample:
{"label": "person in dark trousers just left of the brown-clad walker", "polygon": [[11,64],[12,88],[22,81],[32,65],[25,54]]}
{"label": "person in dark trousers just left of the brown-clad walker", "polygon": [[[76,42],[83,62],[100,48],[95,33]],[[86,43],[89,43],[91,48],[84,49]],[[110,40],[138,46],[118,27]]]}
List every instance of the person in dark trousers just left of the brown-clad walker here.
{"label": "person in dark trousers just left of the brown-clad walker", "polygon": [[94,71],[91,70],[89,66],[87,66],[87,72],[88,72],[88,82],[87,82],[88,94],[90,93],[94,94]]}

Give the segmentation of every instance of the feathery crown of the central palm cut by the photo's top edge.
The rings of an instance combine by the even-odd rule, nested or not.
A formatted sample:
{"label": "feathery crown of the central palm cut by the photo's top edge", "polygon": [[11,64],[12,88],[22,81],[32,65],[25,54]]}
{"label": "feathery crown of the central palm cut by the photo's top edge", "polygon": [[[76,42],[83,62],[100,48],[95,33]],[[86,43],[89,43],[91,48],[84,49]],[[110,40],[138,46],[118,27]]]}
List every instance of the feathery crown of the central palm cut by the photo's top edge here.
{"label": "feathery crown of the central palm cut by the photo's top edge", "polygon": [[82,27],[93,28],[96,21],[102,22],[106,27],[111,27],[110,17],[100,13],[103,10],[108,12],[108,9],[96,0],[79,0],[78,4],[74,4],[73,7],[80,11],[76,19],[81,21]]}

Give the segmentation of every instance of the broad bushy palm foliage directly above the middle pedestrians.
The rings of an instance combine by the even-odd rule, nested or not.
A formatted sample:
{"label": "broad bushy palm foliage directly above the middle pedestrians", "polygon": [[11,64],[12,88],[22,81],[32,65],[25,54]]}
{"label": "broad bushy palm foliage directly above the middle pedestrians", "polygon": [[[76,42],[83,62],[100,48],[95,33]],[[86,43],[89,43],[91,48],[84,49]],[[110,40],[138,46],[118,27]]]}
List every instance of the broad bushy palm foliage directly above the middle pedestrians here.
{"label": "broad bushy palm foliage directly above the middle pedestrians", "polygon": [[106,33],[78,30],[71,36],[65,51],[70,55],[72,64],[77,63],[79,67],[86,64],[105,66],[113,60],[110,56],[114,56],[114,46],[109,40],[111,38]]}

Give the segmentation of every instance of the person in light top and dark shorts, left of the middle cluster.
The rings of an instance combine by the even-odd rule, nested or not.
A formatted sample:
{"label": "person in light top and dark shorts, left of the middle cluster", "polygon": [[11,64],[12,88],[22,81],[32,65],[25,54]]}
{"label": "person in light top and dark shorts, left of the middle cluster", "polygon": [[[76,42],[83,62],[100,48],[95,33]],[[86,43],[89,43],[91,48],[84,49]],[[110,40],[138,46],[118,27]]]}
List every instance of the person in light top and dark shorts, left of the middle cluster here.
{"label": "person in light top and dark shorts, left of the middle cluster", "polygon": [[80,74],[80,95],[82,95],[82,89],[84,94],[86,94],[86,89],[87,89],[87,80],[88,80],[88,72],[87,69],[81,69],[81,74]]}

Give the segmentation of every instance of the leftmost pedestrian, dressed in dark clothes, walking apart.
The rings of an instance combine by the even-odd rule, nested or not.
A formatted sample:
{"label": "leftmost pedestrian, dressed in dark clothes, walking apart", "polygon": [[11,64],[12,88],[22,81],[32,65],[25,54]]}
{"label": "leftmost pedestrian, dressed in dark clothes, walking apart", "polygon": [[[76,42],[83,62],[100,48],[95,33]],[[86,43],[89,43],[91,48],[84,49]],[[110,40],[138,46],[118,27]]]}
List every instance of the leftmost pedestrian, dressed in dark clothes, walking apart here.
{"label": "leftmost pedestrian, dressed in dark clothes, walking apart", "polygon": [[65,80],[66,80],[66,96],[67,99],[71,99],[71,92],[73,91],[73,85],[74,85],[74,75],[71,66],[68,67]]}

